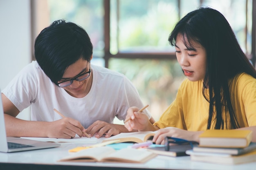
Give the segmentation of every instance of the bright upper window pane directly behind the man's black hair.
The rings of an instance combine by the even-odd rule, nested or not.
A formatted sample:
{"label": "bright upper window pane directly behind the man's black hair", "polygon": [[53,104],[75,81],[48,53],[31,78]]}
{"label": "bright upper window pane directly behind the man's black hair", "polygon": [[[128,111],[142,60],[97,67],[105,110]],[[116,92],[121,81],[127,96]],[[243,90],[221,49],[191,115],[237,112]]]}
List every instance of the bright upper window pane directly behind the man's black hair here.
{"label": "bright upper window pane directly behind the man's black hair", "polygon": [[[82,26],[91,38],[94,61],[103,57],[103,0],[48,0],[48,5],[51,23],[65,19]],[[97,59],[98,62],[101,64],[103,59]]]}

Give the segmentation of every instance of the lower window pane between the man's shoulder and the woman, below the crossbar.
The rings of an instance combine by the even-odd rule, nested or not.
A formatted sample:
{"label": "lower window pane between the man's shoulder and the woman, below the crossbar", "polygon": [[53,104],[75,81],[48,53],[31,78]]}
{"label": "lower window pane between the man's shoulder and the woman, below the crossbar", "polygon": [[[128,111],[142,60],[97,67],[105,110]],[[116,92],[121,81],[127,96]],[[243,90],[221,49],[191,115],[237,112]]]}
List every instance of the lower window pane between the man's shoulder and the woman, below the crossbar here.
{"label": "lower window pane between the man's shoulder and the woman, below the crossbar", "polygon": [[132,81],[155,120],[173,102],[185,78],[177,60],[111,59],[109,66]]}

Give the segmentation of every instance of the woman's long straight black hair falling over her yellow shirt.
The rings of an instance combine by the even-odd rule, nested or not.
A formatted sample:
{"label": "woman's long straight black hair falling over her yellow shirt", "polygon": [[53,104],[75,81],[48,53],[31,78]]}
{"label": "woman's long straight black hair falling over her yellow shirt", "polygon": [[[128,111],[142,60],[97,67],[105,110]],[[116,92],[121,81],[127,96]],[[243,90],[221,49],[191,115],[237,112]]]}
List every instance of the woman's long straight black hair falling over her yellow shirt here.
{"label": "woman's long straight black hair falling over her yellow shirt", "polygon": [[[172,46],[175,45],[177,35],[183,37],[188,49],[193,47],[193,42],[197,42],[207,53],[205,86],[202,91],[209,102],[207,129],[211,128],[212,119],[215,129],[227,129],[228,124],[232,129],[239,128],[230,99],[229,79],[238,73],[247,73],[256,78],[256,71],[240,48],[231,26],[215,9],[200,8],[188,13],[176,24],[168,38]],[[209,97],[205,95],[207,86]],[[222,115],[222,112],[225,114]],[[227,122],[228,119],[230,122]]]}

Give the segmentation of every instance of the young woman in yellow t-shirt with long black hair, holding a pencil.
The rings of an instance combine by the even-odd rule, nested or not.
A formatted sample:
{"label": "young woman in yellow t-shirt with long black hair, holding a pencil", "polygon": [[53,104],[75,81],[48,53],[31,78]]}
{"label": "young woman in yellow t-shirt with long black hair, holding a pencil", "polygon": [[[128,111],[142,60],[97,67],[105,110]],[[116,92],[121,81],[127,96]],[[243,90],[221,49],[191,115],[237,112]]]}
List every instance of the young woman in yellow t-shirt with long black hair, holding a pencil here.
{"label": "young woman in yellow t-shirt with long black hair, holding a pencil", "polygon": [[168,41],[187,79],[159,121],[150,124],[132,107],[126,128],[160,129],[153,139],[157,144],[166,136],[198,141],[207,129],[249,129],[256,141],[256,71],[225,17],[211,8],[192,11]]}

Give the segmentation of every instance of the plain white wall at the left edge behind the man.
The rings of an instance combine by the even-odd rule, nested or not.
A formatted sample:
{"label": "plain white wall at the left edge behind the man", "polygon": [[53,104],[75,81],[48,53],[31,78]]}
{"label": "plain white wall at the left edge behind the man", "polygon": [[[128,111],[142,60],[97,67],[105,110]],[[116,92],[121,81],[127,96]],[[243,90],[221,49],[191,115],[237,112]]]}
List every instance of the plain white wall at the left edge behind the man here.
{"label": "plain white wall at the left edge behind the man", "polygon": [[[0,88],[31,62],[30,0],[0,0]],[[29,119],[27,108],[18,115]]]}

